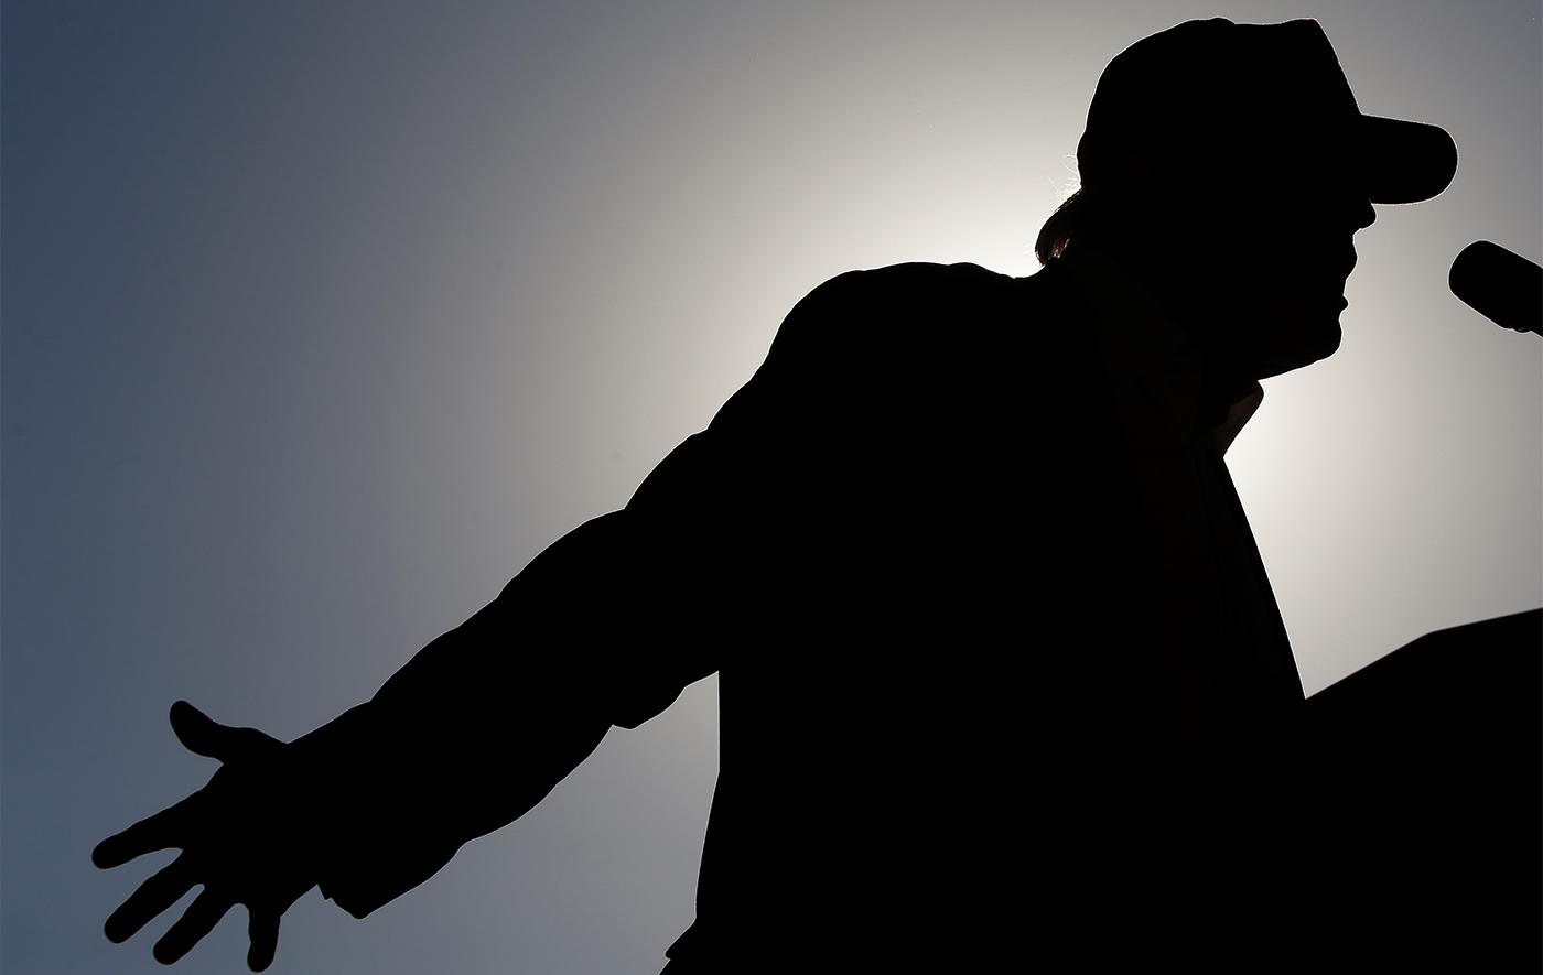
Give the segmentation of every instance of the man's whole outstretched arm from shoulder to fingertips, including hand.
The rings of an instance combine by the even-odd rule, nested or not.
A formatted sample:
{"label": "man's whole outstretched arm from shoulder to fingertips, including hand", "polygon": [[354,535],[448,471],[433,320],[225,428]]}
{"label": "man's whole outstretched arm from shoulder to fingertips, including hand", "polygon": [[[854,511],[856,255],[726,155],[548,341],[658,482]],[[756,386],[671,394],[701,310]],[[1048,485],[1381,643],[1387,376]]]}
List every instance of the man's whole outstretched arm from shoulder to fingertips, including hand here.
{"label": "man's whole outstretched arm from shoulder to fingertips, including hand", "polygon": [[850,423],[819,423],[866,415],[833,390],[855,358],[873,366],[873,349],[847,342],[830,355],[812,327],[858,310],[884,319],[852,298],[853,279],[827,282],[793,310],[761,370],[623,511],[537,555],[369,702],[290,744],[173,705],[182,744],[222,767],[96,848],[99,867],[182,850],[113,913],[108,938],[127,940],[202,884],[156,958],[176,961],[245,904],[247,960],[261,970],[279,915],[310,887],[355,916],[370,913],[540,802],[613,724],[636,727],[714,673],[714,634],[742,625],[756,597],[750,563],[779,532],[775,512],[758,506],[824,489],[810,471],[861,443],[861,427],[853,441]]}

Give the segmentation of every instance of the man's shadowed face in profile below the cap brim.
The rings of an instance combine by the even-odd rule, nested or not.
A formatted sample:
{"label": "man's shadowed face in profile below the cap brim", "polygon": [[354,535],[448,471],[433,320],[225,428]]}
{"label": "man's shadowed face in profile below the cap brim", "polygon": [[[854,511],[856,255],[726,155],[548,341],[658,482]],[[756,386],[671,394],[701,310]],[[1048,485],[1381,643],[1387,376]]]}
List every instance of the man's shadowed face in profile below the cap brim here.
{"label": "man's shadowed face in profile below the cap brim", "polygon": [[1213,353],[1262,380],[1301,369],[1339,347],[1355,231],[1376,214],[1342,174],[1270,167],[1271,187],[1213,211],[1216,256],[1205,301]]}

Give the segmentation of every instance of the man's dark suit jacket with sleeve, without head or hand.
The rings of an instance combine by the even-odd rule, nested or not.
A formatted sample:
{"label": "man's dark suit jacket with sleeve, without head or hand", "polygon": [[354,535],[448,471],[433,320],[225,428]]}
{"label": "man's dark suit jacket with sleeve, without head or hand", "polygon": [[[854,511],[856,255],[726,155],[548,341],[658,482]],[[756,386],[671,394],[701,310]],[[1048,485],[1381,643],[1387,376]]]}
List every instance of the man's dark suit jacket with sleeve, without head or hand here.
{"label": "man's dark suit jacket with sleeve, without head or hand", "polygon": [[[1282,824],[1253,773],[1301,685],[1204,363],[1122,359],[1151,322],[1109,273],[818,287],[625,509],[339,722],[324,893],[367,913],[717,673],[671,973],[1211,936],[1244,875],[1288,869],[1259,859]],[[1153,423],[1163,389],[1188,427]]]}

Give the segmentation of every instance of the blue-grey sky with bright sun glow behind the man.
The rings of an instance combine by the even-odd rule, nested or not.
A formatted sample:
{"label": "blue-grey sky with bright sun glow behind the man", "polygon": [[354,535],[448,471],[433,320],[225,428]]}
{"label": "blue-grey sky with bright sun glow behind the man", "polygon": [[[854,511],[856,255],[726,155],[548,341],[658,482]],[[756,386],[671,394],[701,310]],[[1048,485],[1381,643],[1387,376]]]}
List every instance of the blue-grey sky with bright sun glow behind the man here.
{"label": "blue-grey sky with bright sun glow behind the man", "polygon": [[[1228,455],[1312,693],[1543,603],[1543,342],[1446,288],[1477,239],[1543,258],[1535,0],[8,0],[0,967],[162,970],[173,915],[100,924],[171,855],[89,850],[213,771],[173,700],[299,736],[622,506],[821,281],[1032,273],[1103,65],[1216,14],[1319,19],[1364,111],[1460,148]],[[716,720],[708,679],[613,730],[366,921],[307,895],[272,970],[657,972]],[[177,970],[244,956],[238,910]]]}

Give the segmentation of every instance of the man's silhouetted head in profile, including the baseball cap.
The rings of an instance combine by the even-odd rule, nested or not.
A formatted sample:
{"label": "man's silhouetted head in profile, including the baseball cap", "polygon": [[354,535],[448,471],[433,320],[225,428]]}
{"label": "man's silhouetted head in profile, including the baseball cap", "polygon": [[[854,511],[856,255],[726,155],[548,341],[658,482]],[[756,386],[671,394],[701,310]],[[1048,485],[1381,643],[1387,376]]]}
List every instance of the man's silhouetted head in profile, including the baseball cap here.
{"label": "man's silhouetted head in profile, including the baseball cap", "polygon": [[1082,190],[1046,222],[1122,261],[1234,373],[1339,346],[1352,238],[1372,204],[1429,199],[1457,170],[1433,125],[1361,114],[1313,20],[1193,20],[1103,71],[1077,147]]}

